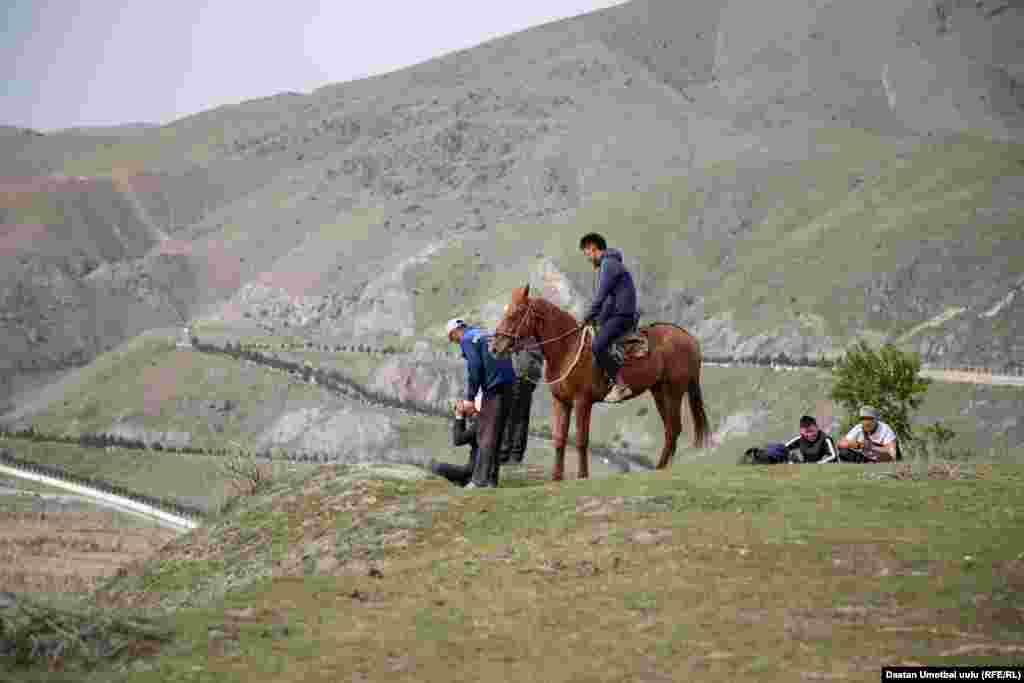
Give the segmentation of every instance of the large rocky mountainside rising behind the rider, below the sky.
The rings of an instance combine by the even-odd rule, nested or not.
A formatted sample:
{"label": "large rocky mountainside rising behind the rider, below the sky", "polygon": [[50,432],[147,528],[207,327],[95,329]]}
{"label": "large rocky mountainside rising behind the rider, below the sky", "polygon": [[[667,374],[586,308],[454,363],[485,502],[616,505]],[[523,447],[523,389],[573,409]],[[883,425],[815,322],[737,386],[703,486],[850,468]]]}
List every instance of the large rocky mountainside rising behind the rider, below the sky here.
{"label": "large rocky mountainside rising behind the rider, below the sky", "polygon": [[1022,34],[987,0],[634,0],[166,126],[5,128],[0,399],[183,318],[410,338],[527,280],[578,310],[591,228],[712,351],[1019,365]]}

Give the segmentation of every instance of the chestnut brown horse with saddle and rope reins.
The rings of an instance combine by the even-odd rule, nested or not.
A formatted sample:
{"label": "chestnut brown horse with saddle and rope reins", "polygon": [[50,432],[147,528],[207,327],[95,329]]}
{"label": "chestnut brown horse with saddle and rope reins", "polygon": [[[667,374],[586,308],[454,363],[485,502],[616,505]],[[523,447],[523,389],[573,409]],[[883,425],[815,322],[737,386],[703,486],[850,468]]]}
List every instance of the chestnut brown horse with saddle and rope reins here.
{"label": "chestnut brown horse with saddle and rope reins", "polygon": [[[553,429],[555,467],[553,481],[564,476],[565,442],[572,411],[577,414],[577,452],[579,477],[590,476],[587,444],[590,439],[590,416],[594,403],[610,390],[603,372],[595,372],[591,352],[591,329],[581,326],[570,314],[546,301],[529,296],[529,285],[512,290],[512,301],[504,309],[492,341],[492,350],[508,357],[521,346],[521,340],[538,340],[544,354],[544,384],[554,399]],[[656,469],[665,469],[676,455],[676,440],[682,432],[682,400],[689,398],[693,420],[693,446],[706,447],[710,435],[700,391],[700,345],[683,328],[671,323],[654,323],[638,331],[650,352],[642,357],[627,355],[621,376],[633,389],[632,400],[647,391],[654,397],[665,424],[665,445]]]}

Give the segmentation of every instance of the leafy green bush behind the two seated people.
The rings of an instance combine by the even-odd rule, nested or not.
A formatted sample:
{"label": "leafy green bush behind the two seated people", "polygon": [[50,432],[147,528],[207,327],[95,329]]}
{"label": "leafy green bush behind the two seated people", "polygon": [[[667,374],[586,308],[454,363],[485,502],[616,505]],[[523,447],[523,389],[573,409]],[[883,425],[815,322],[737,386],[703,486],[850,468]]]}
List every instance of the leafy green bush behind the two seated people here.
{"label": "leafy green bush behind the two seated people", "polygon": [[900,441],[914,439],[910,414],[921,407],[932,380],[921,377],[921,358],[892,344],[874,351],[863,341],[836,360],[830,397],[846,409],[844,430],[859,422],[861,405],[873,405]]}

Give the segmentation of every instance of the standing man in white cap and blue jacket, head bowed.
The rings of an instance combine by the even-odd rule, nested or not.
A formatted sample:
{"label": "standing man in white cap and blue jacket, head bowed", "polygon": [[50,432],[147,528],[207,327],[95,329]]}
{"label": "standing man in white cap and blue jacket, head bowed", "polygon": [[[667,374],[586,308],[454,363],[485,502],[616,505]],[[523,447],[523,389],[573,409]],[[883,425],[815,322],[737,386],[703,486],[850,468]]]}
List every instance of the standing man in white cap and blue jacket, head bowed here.
{"label": "standing man in white cap and blue jacket, head bowed", "polygon": [[462,357],[466,359],[466,397],[462,401],[465,415],[477,413],[473,399],[477,390],[483,390],[477,427],[479,454],[473,477],[466,487],[497,486],[501,467],[498,449],[515,400],[513,392],[518,381],[515,368],[511,359],[499,358],[490,352],[487,343],[490,337],[483,330],[469,327],[460,317],[449,321],[446,330],[449,341],[459,344]]}

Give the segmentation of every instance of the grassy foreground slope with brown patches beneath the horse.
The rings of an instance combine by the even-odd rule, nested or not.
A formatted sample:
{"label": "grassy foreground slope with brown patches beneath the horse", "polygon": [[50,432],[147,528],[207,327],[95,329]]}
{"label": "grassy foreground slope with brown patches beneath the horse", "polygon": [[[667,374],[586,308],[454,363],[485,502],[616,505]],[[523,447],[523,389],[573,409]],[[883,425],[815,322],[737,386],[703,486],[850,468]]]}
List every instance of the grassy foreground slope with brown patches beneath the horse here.
{"label": "grassy foreground slope with brown patches beneath the horse", "polygon": [[91,680],[873,680],[1020,663],[1024,472],[863,476],[888,469],[698,465],[469,493],[325,468],[109,582],[93,601],[178,607],[180,640]]}

